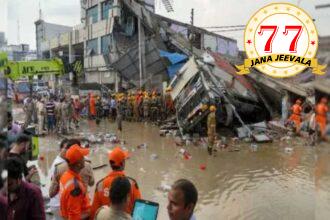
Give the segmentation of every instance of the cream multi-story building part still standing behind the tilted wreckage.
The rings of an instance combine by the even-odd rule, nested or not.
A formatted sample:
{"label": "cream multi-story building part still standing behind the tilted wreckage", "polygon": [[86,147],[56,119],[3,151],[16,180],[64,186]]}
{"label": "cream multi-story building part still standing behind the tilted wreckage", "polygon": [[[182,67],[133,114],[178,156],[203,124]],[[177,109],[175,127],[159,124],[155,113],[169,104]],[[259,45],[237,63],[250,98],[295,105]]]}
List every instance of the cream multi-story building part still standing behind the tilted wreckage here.
{"label": "cream multi-story building part still standing behind the tilted wreckage", "polygon": [[41,42],[41,51],[69,63],[81,59],[87,82],[126,81],[149,88],[169,79],[170,62],[161,51],[191,56],[211,49],[228,58],[237,56],[236,40],[153,11],[154,0],[81,0],[82,23]]}

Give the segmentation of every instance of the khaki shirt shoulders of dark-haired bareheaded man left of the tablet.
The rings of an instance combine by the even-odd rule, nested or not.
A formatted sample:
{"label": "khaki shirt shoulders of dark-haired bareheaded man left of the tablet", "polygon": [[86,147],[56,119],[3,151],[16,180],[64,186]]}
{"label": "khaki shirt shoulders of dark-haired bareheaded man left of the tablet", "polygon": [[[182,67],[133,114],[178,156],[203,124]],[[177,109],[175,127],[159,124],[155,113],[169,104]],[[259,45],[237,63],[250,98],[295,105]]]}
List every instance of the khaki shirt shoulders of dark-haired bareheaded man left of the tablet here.
{"label": "khaki shirt shoulders of dark-haired bareheaded man left of the tablet", "polygon": [[95,220],[131,220],[132,217],[124,211],[102,206],[97,210]]}

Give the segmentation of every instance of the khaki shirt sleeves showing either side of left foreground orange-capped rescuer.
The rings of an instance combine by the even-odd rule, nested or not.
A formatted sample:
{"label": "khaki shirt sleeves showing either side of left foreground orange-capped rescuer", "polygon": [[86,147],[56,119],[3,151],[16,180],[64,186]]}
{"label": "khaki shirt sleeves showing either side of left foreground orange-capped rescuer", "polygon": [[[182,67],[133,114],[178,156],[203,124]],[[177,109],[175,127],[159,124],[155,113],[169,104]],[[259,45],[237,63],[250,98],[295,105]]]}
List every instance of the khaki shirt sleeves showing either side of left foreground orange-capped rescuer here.
{"label": "khaki shirt sleeves showing either side of left foreground orange-capped rescuer", "polygon": [[[59,192],[60,178],[68,170],[69,170],[69,167],[68,167],[67,162],[63,162],[63,163],[57,164],[55,166],[54,175],[52,177],[50,187],[49,187],[49,195],[55,196]],[[94,180],[93,168],[92,168],[92,165],[91,165],[90,161],[85,160],[85,167],[84,167],[84,169],[82,169],[80,171],[79,174],[81,176],[83,184],[86,187],[94,185],[95,180]],[[53,196],[51,196],[51,197],[53,197]]]}

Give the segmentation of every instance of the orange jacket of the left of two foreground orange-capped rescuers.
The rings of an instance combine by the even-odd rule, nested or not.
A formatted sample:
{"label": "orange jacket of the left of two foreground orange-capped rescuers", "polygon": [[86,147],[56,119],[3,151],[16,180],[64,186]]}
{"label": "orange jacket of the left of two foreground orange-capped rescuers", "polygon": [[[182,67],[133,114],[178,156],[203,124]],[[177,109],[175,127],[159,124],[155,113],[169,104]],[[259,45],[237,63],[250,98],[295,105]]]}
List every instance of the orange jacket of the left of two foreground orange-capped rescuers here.
{"label": "orange jacket of the left of two foreground orange-capped rescuers", "polygon": [[[79,188],[80,193],[73,195]],[[61,216],[68,220],[80,220],[90,215],[88,192],[79,174],[72,170],[66,171],[60,179]]]}

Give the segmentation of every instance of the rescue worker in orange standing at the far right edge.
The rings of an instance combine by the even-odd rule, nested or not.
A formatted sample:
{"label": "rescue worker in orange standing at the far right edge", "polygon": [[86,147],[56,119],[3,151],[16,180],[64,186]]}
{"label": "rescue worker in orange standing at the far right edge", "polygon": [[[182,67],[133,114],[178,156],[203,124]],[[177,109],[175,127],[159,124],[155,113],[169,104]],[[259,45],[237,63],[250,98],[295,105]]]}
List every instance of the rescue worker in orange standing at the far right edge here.
{"label": "rescue worker in orange standing at the far right edge", "polygon": [[326,128],[327,128],[327,113],[328,108],[328,99],[323,97],[321,101],[315,107],[315,119],[318,124],[321,132],[321,138],[326,140]]}

